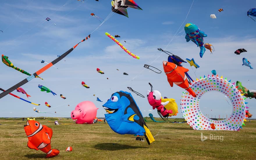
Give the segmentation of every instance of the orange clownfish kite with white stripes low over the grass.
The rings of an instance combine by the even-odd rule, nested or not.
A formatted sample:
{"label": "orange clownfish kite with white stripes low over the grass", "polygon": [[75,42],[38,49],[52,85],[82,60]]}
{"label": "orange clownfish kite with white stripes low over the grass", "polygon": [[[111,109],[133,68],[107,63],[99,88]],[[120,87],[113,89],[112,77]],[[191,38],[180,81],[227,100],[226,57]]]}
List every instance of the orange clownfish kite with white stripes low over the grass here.
{"label": "orange clownfish kite with white stripes low over the grass", "polygon": [[60,153],[57,149],[51,149],[51,128],[41,125],[35,120],[28,120],[27,124],[24,125],[24,130],[29,139],[27,145],[30,149],[45,152],[46,158],[57,156]]}

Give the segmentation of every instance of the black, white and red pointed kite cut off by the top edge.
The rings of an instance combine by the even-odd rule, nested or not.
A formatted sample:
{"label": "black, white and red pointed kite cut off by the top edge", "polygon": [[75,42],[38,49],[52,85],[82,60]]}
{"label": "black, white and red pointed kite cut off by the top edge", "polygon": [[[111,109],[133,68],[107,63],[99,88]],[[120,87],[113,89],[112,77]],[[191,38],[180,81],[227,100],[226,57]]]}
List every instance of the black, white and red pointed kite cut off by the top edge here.
{"label": "black, white and red pointed kite cut off by the top edge", "polygon": [[124,15],[127,18],[129,18],[128,12],[127,12],[128,7],[142,10],[138,6],[138,4],[134,2],[134,0],[113,0],[111,1],[111,5],[112,5],[112,12],[118,13],[120,15]]}

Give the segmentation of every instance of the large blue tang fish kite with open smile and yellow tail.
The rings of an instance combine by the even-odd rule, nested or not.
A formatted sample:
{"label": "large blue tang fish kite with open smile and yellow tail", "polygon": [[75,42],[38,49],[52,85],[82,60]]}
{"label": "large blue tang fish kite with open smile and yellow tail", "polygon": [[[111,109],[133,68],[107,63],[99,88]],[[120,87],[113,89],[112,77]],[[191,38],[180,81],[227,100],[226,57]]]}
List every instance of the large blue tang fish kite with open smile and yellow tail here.
{"label": "large blue tang fish kite with open smile and yellow tail", "polygon": [[131,93],[122,90],[113,93],[103,108],[108,112],[105,118],[114,132],[144,135],[148,144],[155,141]]}

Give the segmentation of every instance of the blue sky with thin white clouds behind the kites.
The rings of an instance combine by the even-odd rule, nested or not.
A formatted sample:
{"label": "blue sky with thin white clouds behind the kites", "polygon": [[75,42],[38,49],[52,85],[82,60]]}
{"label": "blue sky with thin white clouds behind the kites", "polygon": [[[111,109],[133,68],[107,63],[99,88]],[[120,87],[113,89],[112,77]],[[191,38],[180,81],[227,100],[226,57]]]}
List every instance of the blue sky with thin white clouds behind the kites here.
{"label": "blue sky with thin white clouds behind the kites", "polygon": [[[136,0],[143,10],[128,8],[129,18],[111,12],[111,0],[21,0],[0,3],[0,30],[3,31],[0,32],[0,53],[30,74],[46,65],[40,63],[41,60],[50,63],[91,33],[90,39],[81,42],[54,65],[58,69],[51,67],[40,74],[44,80],[34,78],[21,86],[31,97],[27,98],[16,90],[12,92],[40,106],[6,95],[0,99],[0,117],[70,117],[75,106],[83,101],[92,101],[99,108],[97,117],[104,117],[106,111],[102,105],[115,92],[131,92],[127,87],[145,96],[139,97],[131,92],[144,117],[149,113],[159,117],[146,98],[147,90],[151,89],[150,82],[153,90],[159,90],[162,97],[176,100],[179,113],[173,118],[182,118],[180,99],[185,90],[177,85],[170,87],[162,63],[167,61],[168,55],[157,48],[184,60],[194,58],[200,65],[198,69],[182,63],[194,80],[216,70],[219,76],[231,79],[232,83],[241,81],[249,90],[256,90],[256,22],[247,16],[247,11],[256,7],[253,0],[243,3],[239,0],[219,0],[208,4],[199,0],[163,0],[161,3]],[[218,12],[219,8],[223,8],[223,11]],[[105,21],[100,19],[101,23],[91,13]],[[211,14],[217,18],[211,19]],[[47,17],[51,20],[46,21]],[[214,46],[212,54],[206,50],[200,58],[200,48],[191,41],[186,42],[186,23],[196,24],[207,34],[204,41]],[[120,35],[119,42],[140,59],[129,56],[105,32]],[[239,48],[247,52],[234,54]],[[242,66],[243,57],[248,58],[255,69]],[[152,65],[162,73],[146,69],[144,64]],[[99,74],[96,68],[105,74]],[[123,75],[123,72],[129,75]],[[5,90],[27,77],[3,63],[0,65],[0,87]],[[81,81],[90,88],[83,87]],[[41,92],[39,84],[57,95]],[[60,94],[66,99],[62,99]],[[103,102],[96,101],[97,97]],[[51,108],[45,106],[45,102]],[[256,99],[247,98],[246,102],[249,112],[255,114]],[[210,118],[218,118],[219,115],[225,118],[232,112],[229,104],[225,95],[213,91],[202,96],[200,109]],[[41,113],[33,111],[33,107]]]}

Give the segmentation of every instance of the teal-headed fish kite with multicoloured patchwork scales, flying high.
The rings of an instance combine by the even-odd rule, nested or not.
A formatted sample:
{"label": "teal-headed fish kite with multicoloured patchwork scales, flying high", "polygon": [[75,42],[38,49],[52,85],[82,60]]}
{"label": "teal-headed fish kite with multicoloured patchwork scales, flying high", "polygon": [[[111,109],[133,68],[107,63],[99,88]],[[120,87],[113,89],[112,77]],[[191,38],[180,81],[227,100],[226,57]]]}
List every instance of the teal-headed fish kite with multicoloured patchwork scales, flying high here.
{"label": "teal-headed fish kite with multicoloured patchwork scales, flying high", "polygon": [[205,46],[204,46],[204,37],[207,37],[205,32],[200,31],[198,26],[193,23],[187,23],[184,27],[186,33],[186,41],[189,42],[190,40],[194,42],[197,47],[200,47],[200,57],[202,58],[205,53]]}

